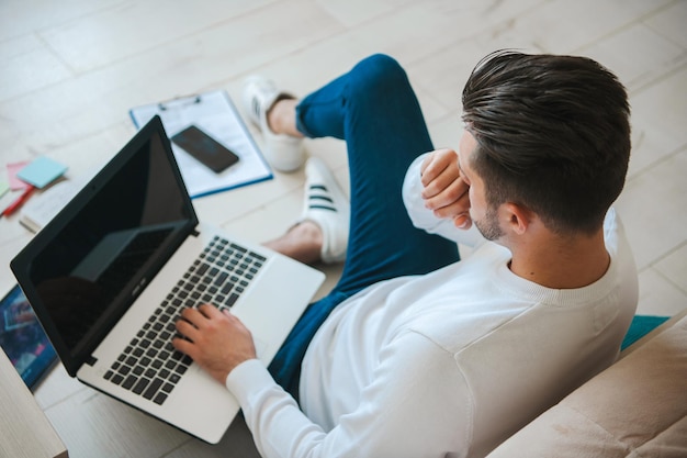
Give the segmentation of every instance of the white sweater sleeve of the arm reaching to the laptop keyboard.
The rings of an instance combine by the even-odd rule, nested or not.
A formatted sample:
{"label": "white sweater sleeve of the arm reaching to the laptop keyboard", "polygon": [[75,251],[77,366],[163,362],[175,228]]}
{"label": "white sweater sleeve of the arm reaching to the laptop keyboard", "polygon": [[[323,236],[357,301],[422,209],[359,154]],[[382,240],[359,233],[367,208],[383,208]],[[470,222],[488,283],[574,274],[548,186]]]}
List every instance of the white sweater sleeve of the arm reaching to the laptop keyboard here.
{"label": "white sweater sleeve of the arm reaching to the laptop keyboard", "polygon": [[471,437],[471,398],[453,356],[408,332],[387,345],[360,404],[325,432],[257,360],[227,378],[259,451],[273,457],[443,457]]}

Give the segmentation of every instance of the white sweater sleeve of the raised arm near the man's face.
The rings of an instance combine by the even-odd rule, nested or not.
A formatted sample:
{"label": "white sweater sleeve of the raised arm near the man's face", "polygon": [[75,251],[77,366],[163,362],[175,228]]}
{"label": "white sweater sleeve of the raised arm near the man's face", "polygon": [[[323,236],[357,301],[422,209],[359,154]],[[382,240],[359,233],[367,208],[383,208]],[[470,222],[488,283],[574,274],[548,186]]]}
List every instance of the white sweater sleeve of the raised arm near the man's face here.
{"label": "white sweater sleeve of the raised arm near the man's face", "polygon": [[471,247],[484,243],[484,237],[480,231],[472,225],[470,230],[460,230],[453,225],[453,221],[437,217],[433,212],[425,206],[421,197],[423,183],[420,182],[420,166],[423,160],[430,153],[419,156],[410,164],[406,171],[405,181],[403,183],[403,202],[405,203],[408,216],[413,225],[424,230],[430,234],[437,234],[455,243],[464,244]]}

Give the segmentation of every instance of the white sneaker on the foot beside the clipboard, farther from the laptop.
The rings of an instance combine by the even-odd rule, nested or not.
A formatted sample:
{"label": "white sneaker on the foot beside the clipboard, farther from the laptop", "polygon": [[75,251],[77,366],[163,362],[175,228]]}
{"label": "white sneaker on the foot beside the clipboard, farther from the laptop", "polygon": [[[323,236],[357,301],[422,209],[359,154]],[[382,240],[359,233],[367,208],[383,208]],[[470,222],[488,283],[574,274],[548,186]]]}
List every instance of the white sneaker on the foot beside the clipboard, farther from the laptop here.
{"label": "white sneaker on the foot beside the clipboard, farther from the laptop", "polygon": [[273,81],[252,76],[244,81],[244,110],[248,118],[262,132],[264,137],[264,158],[279,171],[294,171],[305,163],[303,138],[286,134],[275,134],[267,122],[267,112],[274,102],[294,97],[280,92]]}

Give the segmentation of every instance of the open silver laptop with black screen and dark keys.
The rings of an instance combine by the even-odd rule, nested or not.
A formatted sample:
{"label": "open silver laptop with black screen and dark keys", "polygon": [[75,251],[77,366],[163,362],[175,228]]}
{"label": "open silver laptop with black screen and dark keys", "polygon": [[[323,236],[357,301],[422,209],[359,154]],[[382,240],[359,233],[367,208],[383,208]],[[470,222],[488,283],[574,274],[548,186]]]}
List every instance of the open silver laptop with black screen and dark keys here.
{"label": "open silver laptop with black screen and dark keys", "polygon": [[229,308],[267,365],[324,273],[200,223],[153,118],[11,261],[71,377],[210,444],[239,405],[171,347],[183,308]]}

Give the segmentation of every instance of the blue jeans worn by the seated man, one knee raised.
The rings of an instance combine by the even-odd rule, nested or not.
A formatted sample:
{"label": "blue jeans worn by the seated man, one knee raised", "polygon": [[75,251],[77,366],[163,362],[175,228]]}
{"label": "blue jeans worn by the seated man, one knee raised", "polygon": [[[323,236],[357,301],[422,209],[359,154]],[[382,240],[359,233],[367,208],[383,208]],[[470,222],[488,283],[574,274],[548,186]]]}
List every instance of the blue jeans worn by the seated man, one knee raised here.
{"label": "blue jeans worn by the seated man, one knee raised", "polygon": [[420,107],[404,69],[373,55],[305,97],[296,126],[311,138],[346,141],[350,174],[350,236],[341,278],[308,305],[269,367],[299,399],[301,362],[311,339],[340,302],[381,280],[427,273],[459,260],[453,242],[415,228],[402,199],[410,163],[432,150]]}

